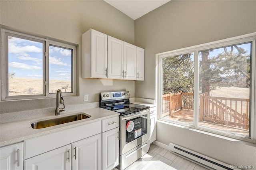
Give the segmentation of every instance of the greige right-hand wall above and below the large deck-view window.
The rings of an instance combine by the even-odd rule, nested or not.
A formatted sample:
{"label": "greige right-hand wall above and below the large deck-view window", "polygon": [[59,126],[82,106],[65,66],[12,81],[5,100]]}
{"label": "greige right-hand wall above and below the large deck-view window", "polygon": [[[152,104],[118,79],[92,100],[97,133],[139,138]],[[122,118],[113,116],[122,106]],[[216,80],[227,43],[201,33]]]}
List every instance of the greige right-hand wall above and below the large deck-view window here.
{"label": "greige right-hand wall above and below the large deck-view window", "polygon": [[[135,96],[155,99],[156,53],[256,32],[255,9],[255,0],[172,0],[135,20],[135,44],[145,48],[145,81],[135,82]],[[160,121],[156,130],[156,140],[163,144],[172,142],[228,164],[256,167],[256,144]]]}

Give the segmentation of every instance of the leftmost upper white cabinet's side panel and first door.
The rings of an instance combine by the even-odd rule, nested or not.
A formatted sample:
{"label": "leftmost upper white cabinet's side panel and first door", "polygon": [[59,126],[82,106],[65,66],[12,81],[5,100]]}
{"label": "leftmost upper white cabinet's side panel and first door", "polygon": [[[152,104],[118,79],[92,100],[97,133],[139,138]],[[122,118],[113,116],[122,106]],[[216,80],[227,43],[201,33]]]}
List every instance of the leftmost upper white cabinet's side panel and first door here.
{"label": "leftmost upper white cabinet's side panel and first door", "polygon": [[92,29],[82,35],[82,78],[107,78],[107,38]]}

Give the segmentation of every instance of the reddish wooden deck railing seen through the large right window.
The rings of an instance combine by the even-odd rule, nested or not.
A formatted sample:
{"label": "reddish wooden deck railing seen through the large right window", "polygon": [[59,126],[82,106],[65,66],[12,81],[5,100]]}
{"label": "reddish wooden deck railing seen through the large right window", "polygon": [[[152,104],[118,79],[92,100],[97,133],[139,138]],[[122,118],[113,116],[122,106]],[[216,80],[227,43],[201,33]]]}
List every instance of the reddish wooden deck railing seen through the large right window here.
{"label": "reddish wooden deck railing seen through the large right window", "polygon": [[[212,97],[200,94],[199,121],[232,127],[249,128],[250,99]],[[162,95],[162,117],[182,109],[193,110],[194,93],[168,93]]]}

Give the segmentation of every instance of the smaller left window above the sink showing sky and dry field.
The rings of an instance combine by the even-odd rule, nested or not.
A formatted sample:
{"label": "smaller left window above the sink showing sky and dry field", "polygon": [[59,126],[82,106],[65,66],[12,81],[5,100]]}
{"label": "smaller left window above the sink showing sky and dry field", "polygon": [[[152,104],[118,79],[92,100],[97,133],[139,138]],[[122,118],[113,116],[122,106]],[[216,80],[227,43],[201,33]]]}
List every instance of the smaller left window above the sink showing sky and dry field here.
{"label": "smaller left window above the sink showing sky and dry field", "polygon": [[75,95],[75,46],[3,29],[2,44],[2,100]]}

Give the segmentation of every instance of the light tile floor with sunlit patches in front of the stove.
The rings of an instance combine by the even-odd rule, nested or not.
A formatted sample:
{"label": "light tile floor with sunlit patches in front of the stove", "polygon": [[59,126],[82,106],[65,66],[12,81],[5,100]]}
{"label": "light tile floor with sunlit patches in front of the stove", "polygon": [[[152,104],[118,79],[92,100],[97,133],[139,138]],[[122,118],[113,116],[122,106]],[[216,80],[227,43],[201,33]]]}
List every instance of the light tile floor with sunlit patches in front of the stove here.
{"label": "light tile floor with sunlit patches in front of the stove", "polygon": [[169,150],[150,145],[150,150],[125,170],[208,170],[194,162],[190,162]]}

